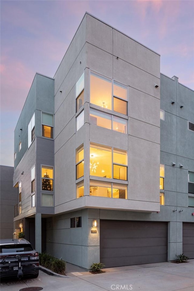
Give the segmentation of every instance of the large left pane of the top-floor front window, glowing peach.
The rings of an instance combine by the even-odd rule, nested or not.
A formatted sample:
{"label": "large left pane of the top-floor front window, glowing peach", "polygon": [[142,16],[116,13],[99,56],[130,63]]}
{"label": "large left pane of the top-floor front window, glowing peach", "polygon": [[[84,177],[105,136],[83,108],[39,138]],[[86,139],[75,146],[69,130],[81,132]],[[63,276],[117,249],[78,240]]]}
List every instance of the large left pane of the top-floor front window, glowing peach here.
{"label": "large left pane of the top-floor front window, glowing peach", "polygon": [[112,110],[112,80],[90,74],[90,103]]}

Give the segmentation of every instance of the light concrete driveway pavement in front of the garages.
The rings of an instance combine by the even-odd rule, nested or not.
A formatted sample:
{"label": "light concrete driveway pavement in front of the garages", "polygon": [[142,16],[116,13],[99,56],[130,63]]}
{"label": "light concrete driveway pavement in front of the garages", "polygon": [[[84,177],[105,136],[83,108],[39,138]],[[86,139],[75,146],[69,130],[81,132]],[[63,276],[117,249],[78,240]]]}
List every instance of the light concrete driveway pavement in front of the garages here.
{"label": "light concrete driveway pavement in front of the garages", "polygon": [[40,271],[37,279],[2,280],[1,291],[19,291],[39,286],[43,291],[194,291],[194,259],[189,263],[156,263],[104,269],[92,275],[67,263],[68,276],[49,276]]}

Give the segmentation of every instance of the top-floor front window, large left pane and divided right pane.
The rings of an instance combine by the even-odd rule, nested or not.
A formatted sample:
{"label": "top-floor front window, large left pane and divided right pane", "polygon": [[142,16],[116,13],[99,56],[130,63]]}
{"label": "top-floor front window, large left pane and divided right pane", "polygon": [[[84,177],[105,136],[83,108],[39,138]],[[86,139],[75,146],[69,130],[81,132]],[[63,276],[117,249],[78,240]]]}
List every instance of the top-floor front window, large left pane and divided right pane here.
{"label": "top-floor front window, large left pane and divided right pane", "polygon": [[91,72],[90,103],[127,115],[127,86]]}

